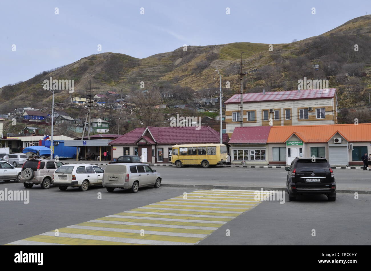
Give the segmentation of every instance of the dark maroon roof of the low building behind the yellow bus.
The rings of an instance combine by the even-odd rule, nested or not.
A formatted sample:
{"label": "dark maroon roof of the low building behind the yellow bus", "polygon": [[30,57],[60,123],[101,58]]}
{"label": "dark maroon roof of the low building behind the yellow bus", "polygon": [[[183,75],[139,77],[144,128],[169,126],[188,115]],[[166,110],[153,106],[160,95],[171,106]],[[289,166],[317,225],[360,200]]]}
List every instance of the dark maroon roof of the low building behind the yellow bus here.
{"label": "dark maroon roof of the low building behind the yellow bus", "polygon": [[[110,145],[134,145],[140,139],[151,144],[219,143],[219,133],[209,126],[137,128],[110,142]],[[228,135],[223,135],[223,141]]]}

